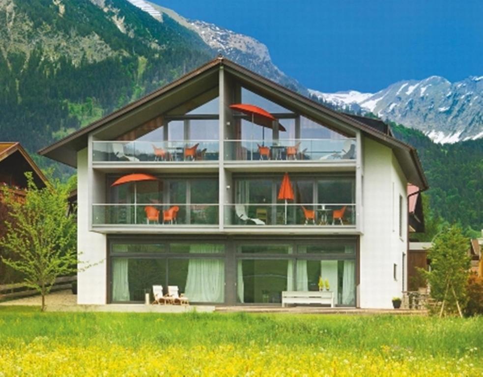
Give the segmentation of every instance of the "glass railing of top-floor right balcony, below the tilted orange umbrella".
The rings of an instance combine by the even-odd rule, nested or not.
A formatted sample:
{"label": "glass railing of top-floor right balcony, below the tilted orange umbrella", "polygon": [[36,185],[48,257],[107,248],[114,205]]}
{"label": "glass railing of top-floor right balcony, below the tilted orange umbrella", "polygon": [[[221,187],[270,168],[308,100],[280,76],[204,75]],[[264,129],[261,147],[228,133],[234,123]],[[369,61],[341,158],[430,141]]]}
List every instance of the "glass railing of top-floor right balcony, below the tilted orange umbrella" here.
{"label": "glass railing of top-floor right balcony, below the tilted orange umbrella", "polygon": [[225,160],[355,160],[355,139],[225,140]]}

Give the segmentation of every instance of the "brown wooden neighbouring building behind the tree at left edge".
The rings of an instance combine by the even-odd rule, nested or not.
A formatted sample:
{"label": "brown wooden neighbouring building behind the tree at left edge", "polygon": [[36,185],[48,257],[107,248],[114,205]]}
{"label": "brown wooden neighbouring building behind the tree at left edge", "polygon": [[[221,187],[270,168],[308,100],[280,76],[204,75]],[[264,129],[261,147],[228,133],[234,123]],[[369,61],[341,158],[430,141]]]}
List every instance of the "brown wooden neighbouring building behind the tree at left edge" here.
{"label": "brown wooden neighbouring building behind the tree at left edge", "polygon": [[[38,188],[46,187],[47,178],[20,143],[0,142],[0,187],[6,187],[18,200],[23,200],[27,188],[25,173],[28,171],[32,172],[33,181]],[[0,191],[0,237],[5,233],[7,218],[8,208],[3,203]],[[14,279],[13,271],[5,269],[0,260],[0,284],[13,282],[12,279]]]}

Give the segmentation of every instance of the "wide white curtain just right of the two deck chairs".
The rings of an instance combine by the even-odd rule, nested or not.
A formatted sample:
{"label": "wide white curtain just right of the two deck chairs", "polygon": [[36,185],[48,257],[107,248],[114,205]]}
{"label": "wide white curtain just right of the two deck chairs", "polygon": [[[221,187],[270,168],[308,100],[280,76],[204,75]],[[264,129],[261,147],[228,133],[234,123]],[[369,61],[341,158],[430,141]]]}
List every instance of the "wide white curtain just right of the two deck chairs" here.
{"label": "wide white curtain just right of the two deck chairs", "polygon": [[[193,244],[190,253],[213,254],[223,251],[223,245]],[[190,259],[185,295],[193,302],[223,302],[225,300],[225,263],[222,259]]]}

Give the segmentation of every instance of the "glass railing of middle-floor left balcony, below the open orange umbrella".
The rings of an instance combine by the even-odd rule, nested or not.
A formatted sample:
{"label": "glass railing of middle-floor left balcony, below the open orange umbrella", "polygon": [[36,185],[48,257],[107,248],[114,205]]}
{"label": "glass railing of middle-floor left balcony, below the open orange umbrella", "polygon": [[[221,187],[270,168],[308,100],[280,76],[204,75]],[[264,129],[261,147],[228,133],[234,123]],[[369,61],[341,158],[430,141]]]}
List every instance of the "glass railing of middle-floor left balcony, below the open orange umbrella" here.
{"label": "glass railing of middle-floor left balcony, below the open orange umbrella", "polygon": [[93,225],[217,225],[218,204],[93,204]]}

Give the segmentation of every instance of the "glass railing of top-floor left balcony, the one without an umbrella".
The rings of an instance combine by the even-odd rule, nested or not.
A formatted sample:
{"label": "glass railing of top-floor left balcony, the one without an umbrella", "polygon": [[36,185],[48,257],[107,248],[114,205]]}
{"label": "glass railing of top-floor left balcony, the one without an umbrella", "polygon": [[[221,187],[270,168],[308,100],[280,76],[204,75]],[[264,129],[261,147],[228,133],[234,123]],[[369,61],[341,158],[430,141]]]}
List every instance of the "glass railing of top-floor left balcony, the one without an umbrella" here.
{"label": "glass railing of top-floor left balcony, the one without an umbrella", "polygon": [[93,162],[218,161],[218,140],[93,141]]}

